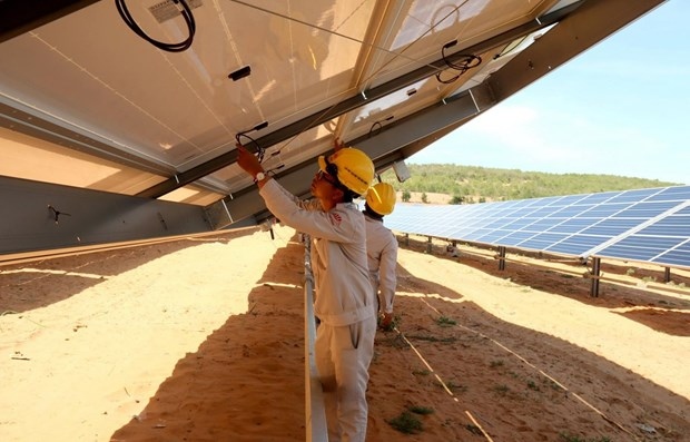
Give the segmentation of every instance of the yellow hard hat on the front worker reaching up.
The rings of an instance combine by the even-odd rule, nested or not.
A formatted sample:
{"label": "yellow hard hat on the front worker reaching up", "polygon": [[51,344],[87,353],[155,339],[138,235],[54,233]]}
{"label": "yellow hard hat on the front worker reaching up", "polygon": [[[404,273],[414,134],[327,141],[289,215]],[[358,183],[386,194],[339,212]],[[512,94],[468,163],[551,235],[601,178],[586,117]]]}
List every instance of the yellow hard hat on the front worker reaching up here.
{"label": "yellow hard hat on the front worker reaching up", "polygon": [[374,163],[362,150],[346,147],[336,150],[328,158],[318,157],[318,168],[357,195],[364,195],[374,180]]}

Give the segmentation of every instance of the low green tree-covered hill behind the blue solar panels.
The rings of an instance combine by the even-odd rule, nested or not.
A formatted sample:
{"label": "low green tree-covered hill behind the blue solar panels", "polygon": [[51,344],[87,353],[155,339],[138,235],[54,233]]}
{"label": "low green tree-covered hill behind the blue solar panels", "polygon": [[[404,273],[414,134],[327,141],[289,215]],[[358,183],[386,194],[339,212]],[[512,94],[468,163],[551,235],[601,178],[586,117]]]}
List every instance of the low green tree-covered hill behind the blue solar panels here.
{"label": "low green tree-covered hill behind the blue solar panels", "polygon": [[[393,169],[382,174],[403,196],[412,193],[448,195],[451,204],[473,204],[548,196],[591,194],[676,186],[678,183],[615,175],[546,174],[452,164],[408,164],[411,178],[400,183]],[[405,200],[405,198],[403,198]],[[407,199],[410,200],[410,199]]]}

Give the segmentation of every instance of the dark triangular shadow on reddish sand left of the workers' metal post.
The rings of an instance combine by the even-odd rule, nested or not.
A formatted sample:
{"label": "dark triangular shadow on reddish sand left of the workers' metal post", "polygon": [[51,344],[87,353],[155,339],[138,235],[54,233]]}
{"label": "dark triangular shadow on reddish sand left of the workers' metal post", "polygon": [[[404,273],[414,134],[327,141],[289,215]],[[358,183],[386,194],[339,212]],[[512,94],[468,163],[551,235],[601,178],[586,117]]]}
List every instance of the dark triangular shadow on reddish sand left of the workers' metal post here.
{"label": "dark triangular shadow on reddish sand left of the workers' metal post", "polygon": [[228,317],[111,441],[304,441],[304,247],[279,248]]}

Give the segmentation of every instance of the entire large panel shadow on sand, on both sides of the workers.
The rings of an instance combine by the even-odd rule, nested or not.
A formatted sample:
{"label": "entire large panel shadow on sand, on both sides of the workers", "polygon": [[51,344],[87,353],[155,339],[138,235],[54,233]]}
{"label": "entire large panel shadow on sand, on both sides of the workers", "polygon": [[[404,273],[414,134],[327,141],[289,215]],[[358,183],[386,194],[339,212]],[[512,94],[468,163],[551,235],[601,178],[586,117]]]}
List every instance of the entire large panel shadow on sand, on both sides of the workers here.
{"label": "entire large panel shadow on sand, on both sides of the workers", "polygon": [[[303,256],[297,243],[278,249],[248,294],[249,312],[229,317],[180,360],[111,441],[304,441]],[[496,441],[690,434],[684,397],[563,340],[500,321],[442,284],[403,267],[398,274],[402,333],[377,334],[368,442],[479,440],[480,425]],[[405,436],[390,422],[412,406],[433,412],[421,416],[418,434]]]}

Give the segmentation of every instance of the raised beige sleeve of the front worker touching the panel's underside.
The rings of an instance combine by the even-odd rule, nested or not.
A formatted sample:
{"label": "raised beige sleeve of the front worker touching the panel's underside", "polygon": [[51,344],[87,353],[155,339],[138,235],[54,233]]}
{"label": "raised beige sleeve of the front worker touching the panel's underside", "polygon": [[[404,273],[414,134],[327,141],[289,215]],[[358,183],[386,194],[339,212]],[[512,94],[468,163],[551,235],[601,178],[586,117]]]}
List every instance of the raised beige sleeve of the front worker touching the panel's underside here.
{"label": "raised beige sleeve of the front worker touching the panel's underside", "polygon": [[314,237],[351,243],[355,235],[352,223],[343,223],[347,215],[337,207],[328,210],[309,210],[302,207],[299,200],[275,179],[269,179],[259,190],[266,207],[282,223]]}

